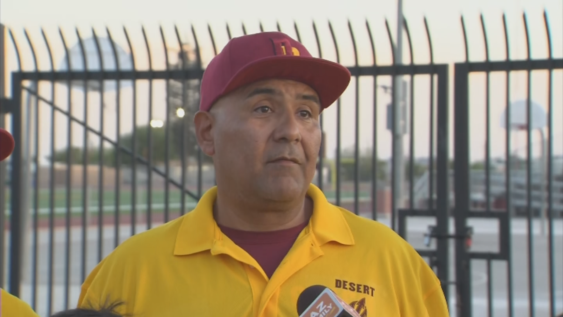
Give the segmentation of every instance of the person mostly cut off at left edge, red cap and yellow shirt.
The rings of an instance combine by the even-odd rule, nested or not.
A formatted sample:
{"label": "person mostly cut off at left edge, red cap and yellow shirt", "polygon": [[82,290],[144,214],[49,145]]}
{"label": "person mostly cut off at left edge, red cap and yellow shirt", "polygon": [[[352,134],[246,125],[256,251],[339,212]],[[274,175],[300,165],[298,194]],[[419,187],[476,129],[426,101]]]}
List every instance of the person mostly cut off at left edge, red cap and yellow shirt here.
{"label": "person mostly cut off at left edge, red cap and yellow shirt", "polygon": [[[14,151],[14,138],[0,128],[0,162]],[[0,184],[0,189],[2,184]],[[0,208],[0,210],[3,210]],[[0,228],[3,232],[3,228]],[[0,317],[38,317],[27,303],[0,288]]]}

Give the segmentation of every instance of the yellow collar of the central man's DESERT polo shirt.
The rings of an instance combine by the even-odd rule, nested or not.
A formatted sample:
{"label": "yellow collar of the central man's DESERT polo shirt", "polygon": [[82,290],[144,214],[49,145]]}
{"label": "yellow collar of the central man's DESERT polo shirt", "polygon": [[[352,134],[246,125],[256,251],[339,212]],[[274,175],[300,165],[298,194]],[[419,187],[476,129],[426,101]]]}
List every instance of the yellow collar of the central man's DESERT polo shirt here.
{"label": "yellow collar of the central man's DESERT polo shirt", "polygon": [[[324,193],[310,184],[307,196],[313,201],[313,214],[306,231],[312,232],[318,245],[336,241],[343,245],[353,245],[354,236],[337,206],[330,204]],[[213,204],[217,197],[217,187],[210,188],[199,200],[195,209],[183,216],[176,235],[175,256],[185,256],[211,250],[222,239],[220,228],[213,218]]]}

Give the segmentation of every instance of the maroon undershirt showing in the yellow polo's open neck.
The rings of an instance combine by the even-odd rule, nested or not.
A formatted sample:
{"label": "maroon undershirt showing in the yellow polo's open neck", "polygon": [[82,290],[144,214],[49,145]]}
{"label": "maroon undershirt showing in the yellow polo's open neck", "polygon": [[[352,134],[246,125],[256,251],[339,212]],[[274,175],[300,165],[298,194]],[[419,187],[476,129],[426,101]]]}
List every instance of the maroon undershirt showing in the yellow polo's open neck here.
{"label": "maroon undershirt showing in the yellow polo's open neck", "polygon": [[221,225],[219,228],[236,245],[250,254],[268,278],[271,278],[306,226],[307,222],[289,229],[266,232],[242,231]]}

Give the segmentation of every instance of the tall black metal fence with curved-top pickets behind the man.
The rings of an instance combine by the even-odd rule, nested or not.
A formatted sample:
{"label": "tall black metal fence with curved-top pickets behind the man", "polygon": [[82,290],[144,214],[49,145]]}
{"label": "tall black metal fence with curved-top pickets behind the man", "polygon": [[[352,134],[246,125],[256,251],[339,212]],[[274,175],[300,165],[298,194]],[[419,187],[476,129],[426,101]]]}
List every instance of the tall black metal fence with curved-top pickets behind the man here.
{"label": "tall black metal fence with curved-top pickets behind the man", "polygon": [[[353,77],[348,91],[321,116],[325,134],[314,182],[334,204],[388,223],[412,243],[435,268],[453,314],[533,316],[538,312],[555,316],[563,311],[563,294],[558,292],[563,288],[563,228],[558,228],[562,224],[558,206],[563,204],[563,169],[557,170],[553,148],[553,122],[558,122],[553,113],[557,111],[554,109],[563,109],[563,101],[555,96],[553,87],[560,82],[562,73],[556,70],[563,68],[563,60],[552,56],[551,40],[547,59],[512,60],[504,20],[506,60],[490,61],[482,18],[481,22],[486,60],[469,61],[465,37],[466,61],[455,64],[453,104],[448,95],[452,68],[434,63],[426,19],[423,22],[428,43],[426,64],[414,64],[415,51],[406,21],[403,32],[410,58],[404,64],[393,57],[395,43],[387,21],[384,43],[387,50],[376,45],[377,32],[368,22],[361,29],[356,23],[348,22],[346,33],[351,47],[347,51],[338,45],[343,32],[338,33],[332,23],[323,27],[313,23],[312,28],[294,24],[291,29],[283,29],[305,43],[314,55],[316,49],[319,57],[333,56],[341,62],[344,55],[351,55],[354,61],[348,67]],[[545,24],[549,39],[547,16]],[[282,30],[280,24],[276,27]],[[262,25],[260,30],[264,30]],[[242,32],[247,33],[244,24]],[[361,40],[354,35],[360,32],[366,36]],[[90,38],[84,38],[78,29],[73,33],[76,44],[69,47],[72,41],[62,30],[57,40],[50,39],[44,30],[41,40],[34,40],[31,32],[25,30],[26,50],[33,63],[33,69],[29,70],[22,66],[24,46],[16,32],[8,30],[17,71],[11,74],[11,97],[2,99],[1,111],[10,118],[8,127],[16,139],[16,149],[8,162],[7,173],[0,168],[0,180],[7,184],[5,188],[0,187],[0,206],[6,206],[6,213],[0,213],[0,227],[7,234],[0,235],[0,285],[7,285],[11,293],[29,301],[41,315],[73,306],[79,285],[88,272],[115,246],[128,236],[189,212],[202,193],[214,184],[212,164],[196,146],[191,117],[198,109],[204,59],[206,55],[217,54],[221,47],[217,44],[218,32],[208,27],[209,45],[205,46],[202,33],[196,33],[195,28],[188,34],[191,41],[183,39],[178,28],[173,29],[172,36],[160,28],[160,54],[155,53],[155,38],[144,28],[140,43],[133,41],[128,29],[119,32],[125,48],[118,45],[117,32],[109,29],[104,36],[92,29]],[[312,45],[307,45],[305,33],[309,34]],[[229,39],[233,37],[229,25],[226,34]],[[526,26],[529,52],[528,37]],[[64,56],[59,69],[55,67],[55,41],[62,47],[59,52]],[[367,56],[365,59],[370,64],[361,65],[360,55]],[[385,56],[390,61],[387,65],[381,62]],[[42,60],[47,60],[48,70],[39,67]],[[158,68],[159,63],[164,67]],[[535,177],[530,125],[526,134],[527,155],[512,156],[508,119],[513,98],[509,91],[511,72],[528,72],[530,91],[529,74],[537,69],[549,74],[546,86],[549,177],[547,186],[542,182],[539,189],[528,185]],[[470,151],[473,148],[470,135],[474,132],[470,129],[469,106],[472,72],[486,74],[483,103],[486,117],[482,120],[486,151],[484,159],[477,162],[482,163],[480,168]],[[500,164],[505,168],[493,161],[489,141],[494,139],[490,133],[490,95],[498,93],[490,91],[489,78],[494,72],[502,72],[507,78],[508,141],[506,160]],[[392,88],[398,77],[405,85],[402,94],[394,94]],[[387,95],[389,91],[391,94]],[[526,95],[526,118],[531,113],[530,99]],[[400,126],[394,124],[392,109],[397,107],[403,107],[401,113],[408,113],[404,120],[397,121],[401,122]],[[449,122],[450,113],[453,113],[453,125]],[[451,126],[455,132],[450,138]],[[386,129],[391,137],[383,133]],[[401,144],[397,138],[408,140],[406,164],[400,167],[406,174],[402,180],[406,195],[392,190],[400,179],[389,173],[392,164],[386,161],[391,153],[396,153],[397,144]],[[454,141],[453,157],[450,140]],[[526,205],[520,206],[525,210],[525,219],[517,218],[514,212],[515,179],[511,175],[519,170],[512,169],[511,160],[522,161],[526,166],[523,186],[527,199]],[[473,177],[481,172],[484,181]],[[501,179],[506,182],[493,184],[495,173],[501,173]],[[484,185],[485,189],[476,189],[477,185]],[[505,190],[497,195],[494,188]],[[484,206],[474,197],[476,192],[484,194]],[[533,252],[542,249],[541,245],[533,246],[538,221],[533,211],[535,192],[547,193],[547,199],[543,196],[539,199],[547,201],[548,247],[543,247],[546,257],[542,259]],[[499,199],[505,204],[497,204]],[[468,218],[486,220],[471,222]],[[527,229],[524,235],[515,232],[522,222]],[[483,229],[495,224],[497,230]],[[522,236],[526,237],[525,241],[521,241]],[[450,240],[454,243],[450,244]],[[479,245],[497,242],[498,251],[478,250]],[[522,253],[526,243],[528,253]],[[455,254],[450,254],[451,246]],[[529,259],[527,268],[520,266],[522,254]],[[534,259],[545,262],[546,258],[548,275],[543,279],[548,284],[547,306],[534,307],[538,301],[534,297],[534,290],[538,289],[533,280],[537,273]],[[483,302],[479,301],[483,295],[482,280],[477,279],[479,283],[475,283],[474,276],[475,268],[480,267],[472,267],[472,260],[486,262]],[[515,261],[519,264],[517,272]],[[494,274],[499,263],[507,267],[500,270],[508,272],[508,278],[501,283],[497,283],[498,274]],[[528,284],[520,283],[522,272],[528,272]],[[515,309],[515,305],[521,304],[514,300],[515,292],[529,293],[529,310]],[[498,305],[498,294],[504,293],[506,301]]]}

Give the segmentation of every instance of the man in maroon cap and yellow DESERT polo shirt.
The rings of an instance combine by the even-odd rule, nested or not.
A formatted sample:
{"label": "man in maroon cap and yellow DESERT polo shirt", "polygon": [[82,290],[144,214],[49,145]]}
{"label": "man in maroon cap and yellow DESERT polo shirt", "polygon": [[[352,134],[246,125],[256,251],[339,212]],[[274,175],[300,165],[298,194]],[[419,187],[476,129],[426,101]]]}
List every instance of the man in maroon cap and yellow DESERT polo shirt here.
{"label": "man in maroon cap and yellow DESERT polo shirt", "polygon": [[110,296],[153,316],[297,316],[325,285],[363,317],[445,317],[440,281],[388,227],[311,184],[319,115],[350,73],[280,32],[234,38],[209,63],[194,118],[217,186],[94,268],[79,306]]}

